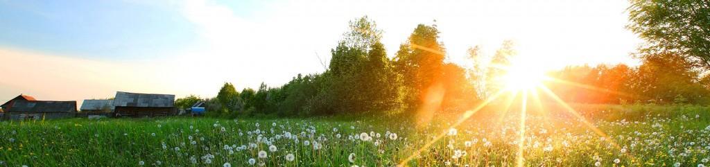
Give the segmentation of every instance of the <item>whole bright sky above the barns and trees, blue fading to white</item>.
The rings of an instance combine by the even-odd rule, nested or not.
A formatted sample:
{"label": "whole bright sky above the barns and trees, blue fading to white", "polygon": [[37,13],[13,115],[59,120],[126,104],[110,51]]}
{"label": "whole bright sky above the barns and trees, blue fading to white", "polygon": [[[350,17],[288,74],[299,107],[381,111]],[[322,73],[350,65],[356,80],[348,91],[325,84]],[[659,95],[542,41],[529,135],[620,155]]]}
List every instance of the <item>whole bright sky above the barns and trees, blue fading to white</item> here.
{"label": "whole bright sky above the barns and trees, blue fading to white", "polygon": [[368,16],[393,57],[417,24],[436,24],[447,61],[491,55],[505,40],[520,58],[556,69],[626,63],[641,41],[623,0],[300,1],[0,0],[0,103],[113,97],[116,91],[213,97],[278,87],[325,70],[348,21]]}

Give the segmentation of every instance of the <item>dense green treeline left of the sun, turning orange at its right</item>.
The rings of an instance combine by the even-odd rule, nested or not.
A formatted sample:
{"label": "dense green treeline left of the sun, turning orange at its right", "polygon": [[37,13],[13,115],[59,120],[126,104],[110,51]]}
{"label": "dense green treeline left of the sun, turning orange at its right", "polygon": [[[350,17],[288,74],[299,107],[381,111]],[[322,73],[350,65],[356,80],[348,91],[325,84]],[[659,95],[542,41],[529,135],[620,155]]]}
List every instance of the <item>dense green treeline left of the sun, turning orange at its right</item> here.
{"label": "dense green treeline left of the sun, turning orange at its right", "polygon": [[[466,69],[445,61],[436,25],[420,24],[387,57],[382,31],[366,16],[349,23],[325,72],[297,75],[280,87],[237,91],[225,83],[207,99],[212,114],[222,116],[304,116],[355,114],[393,109],[411,111],[427,100],[442,111],[469,109],[479,100]],[[195,97],[189,97],[195,98]]]}

